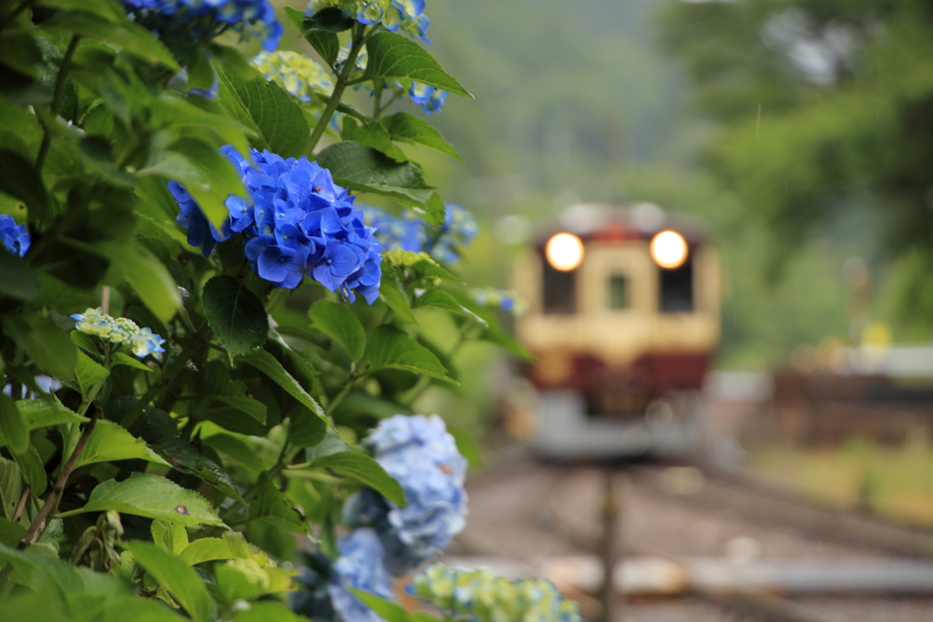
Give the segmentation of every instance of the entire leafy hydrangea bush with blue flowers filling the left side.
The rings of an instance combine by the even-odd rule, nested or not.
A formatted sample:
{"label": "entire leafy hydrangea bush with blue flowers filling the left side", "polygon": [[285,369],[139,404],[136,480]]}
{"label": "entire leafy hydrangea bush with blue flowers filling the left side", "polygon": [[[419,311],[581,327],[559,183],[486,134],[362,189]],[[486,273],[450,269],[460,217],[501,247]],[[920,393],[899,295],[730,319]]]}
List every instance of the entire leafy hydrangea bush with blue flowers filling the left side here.
{"label": "entire leafy hydrangea bush with blue flowers filling the left side", "polygon": [[456,386],[464,340],[526,355],[508,297],[455,273],[475,218],[403,148],[459,159],[392,109],[469,96],[428,24],[414,0],[0,8],[4,622],[404,622],[466,461],[438,415],[391,414]]}

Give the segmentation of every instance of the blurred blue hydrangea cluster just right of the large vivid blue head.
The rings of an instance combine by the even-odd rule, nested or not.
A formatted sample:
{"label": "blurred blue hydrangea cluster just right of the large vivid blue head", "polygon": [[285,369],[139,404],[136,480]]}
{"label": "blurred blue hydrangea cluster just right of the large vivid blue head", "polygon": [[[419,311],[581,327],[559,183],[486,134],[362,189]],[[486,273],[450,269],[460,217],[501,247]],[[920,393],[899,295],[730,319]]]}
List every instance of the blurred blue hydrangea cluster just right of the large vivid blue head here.
{"label": "blurred blue hydrangea cluster just right of the large vivid blue head", "polygon": [[389,214],[378,207],[361,207],[366,223],[376,229],[385,250],[400,248],[418,253],[425,251],[438,261],[455,264],[469,242],[479,232],[476,217],[456,203],[445,203],[444,224],[432,226],[419,215],[405,212]]}

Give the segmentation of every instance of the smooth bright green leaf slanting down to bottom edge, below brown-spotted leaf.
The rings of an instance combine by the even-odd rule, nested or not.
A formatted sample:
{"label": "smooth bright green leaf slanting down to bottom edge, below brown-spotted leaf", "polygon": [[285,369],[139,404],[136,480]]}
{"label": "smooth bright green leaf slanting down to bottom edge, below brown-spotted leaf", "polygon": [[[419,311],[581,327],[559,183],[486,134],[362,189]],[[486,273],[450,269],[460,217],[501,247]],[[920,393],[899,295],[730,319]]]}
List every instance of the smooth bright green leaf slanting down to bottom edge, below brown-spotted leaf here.
{"label": "smooth bright green leaf slanting down to bottom edge, below brown-spotted leaf", "polygon": [[201,577],[184,560],[147,542],[127,543],[132,557],[171,592],[175,601],[197,622],[212,622],[216,605]]}

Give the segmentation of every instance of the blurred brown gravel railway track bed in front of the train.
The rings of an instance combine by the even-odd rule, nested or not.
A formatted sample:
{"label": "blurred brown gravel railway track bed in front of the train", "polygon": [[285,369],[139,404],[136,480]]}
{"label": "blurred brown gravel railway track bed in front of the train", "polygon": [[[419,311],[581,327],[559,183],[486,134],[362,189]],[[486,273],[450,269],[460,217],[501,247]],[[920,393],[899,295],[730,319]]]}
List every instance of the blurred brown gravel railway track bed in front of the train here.
{"label": "blurred brown gravel railway track bed in front of the train", "polygon": [[[619,467],[625,481],[618,522],[622,559],[740,564],[776,560],[778,565],[827,568],[860,564],[884,572],[884,561],[892,556],[896,561],[922,560],[933,551],[933,537],[926,532],[816,507],[736,477],[714,474],[698,482],[695,471],[681,470],[681,476],[693,474],[692,484],[685,485],[689,477],[680,477],[679,483],[671,477],[678,468],[683,467]],[[595,465],[542,464],[522,454],[508,457],[467,482],[473,514],[457,552],[494,556],[521,567],[516,572],[536,574],[544,574],[555,559],[592,556],[604,534],[599,519],[603,472]],[[590,617],[599,615],[592,589],[575,596]],[[928,594],[910,598],[866,592],[781,598],[755,588],[630,594],[628,601],[614,622],[913,622],[933,620],[933,581]]]}

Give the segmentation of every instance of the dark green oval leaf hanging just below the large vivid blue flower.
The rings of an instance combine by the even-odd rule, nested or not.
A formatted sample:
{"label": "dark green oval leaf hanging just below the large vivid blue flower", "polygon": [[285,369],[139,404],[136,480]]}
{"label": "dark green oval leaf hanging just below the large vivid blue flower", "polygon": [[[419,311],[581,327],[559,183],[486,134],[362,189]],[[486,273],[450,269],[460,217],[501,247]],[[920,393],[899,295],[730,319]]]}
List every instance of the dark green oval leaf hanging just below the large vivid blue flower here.
{"label": "dark green oval leaf hanging just below the large vivid blue flower", "polygon": [[256,350],[266,341],[269,317],[242,280],[222,274],[204,285],[204,315],[227,348],[230,360]]}

